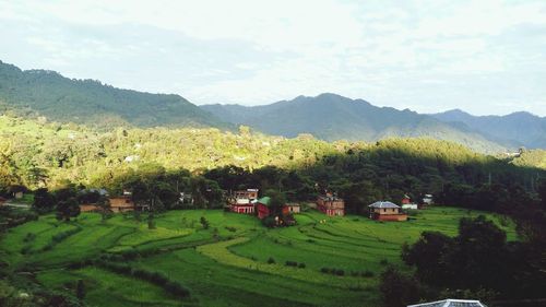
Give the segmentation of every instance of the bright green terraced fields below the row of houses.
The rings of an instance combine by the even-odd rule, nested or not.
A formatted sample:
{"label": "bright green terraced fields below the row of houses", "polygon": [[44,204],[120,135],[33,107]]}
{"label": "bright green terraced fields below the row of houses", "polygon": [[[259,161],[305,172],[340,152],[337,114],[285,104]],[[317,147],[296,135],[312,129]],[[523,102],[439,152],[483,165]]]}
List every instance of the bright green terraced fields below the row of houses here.
{"label": "bright green terraced fields below the row of houses", "polygon": [[[76,281],[83,280],[90,306],[378,306],[378,276],[388,262],[402,265],[402,244],[415,241],[423,231],[454,236],[460,217],[478,214],[437,206],[408,222],[380,223],[311,210],[297,215],[296,226],[276,229],[264,228],[253,216],[213,210],[158,214],[155,229],[132,215],[118,214],[105,223],[94,213],[70,223],[47,215],[8,231],[0,258],[15,272],[35,272],[48,288],[74,293]],[[487,215],[515,239],[511,223]],[[201,216],[209,229],[199,223]],[[140,256],[111,261],[161,272],[190,296],[175,297],[157,284],[106,268],[69,269],[131,250]],[[323,268],[339,274],[323,273]]]}

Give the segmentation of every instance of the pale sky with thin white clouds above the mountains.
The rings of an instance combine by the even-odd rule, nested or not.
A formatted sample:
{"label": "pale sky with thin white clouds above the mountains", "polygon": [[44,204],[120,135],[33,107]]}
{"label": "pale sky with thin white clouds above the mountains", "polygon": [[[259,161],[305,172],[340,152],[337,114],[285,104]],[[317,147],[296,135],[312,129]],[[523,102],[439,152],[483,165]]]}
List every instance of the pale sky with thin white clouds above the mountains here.
{"label": "pale sky with thin white clouds above the mountains", "polygon": [[546,1],[0,0],[0,60],[202,104],[546,116]]}

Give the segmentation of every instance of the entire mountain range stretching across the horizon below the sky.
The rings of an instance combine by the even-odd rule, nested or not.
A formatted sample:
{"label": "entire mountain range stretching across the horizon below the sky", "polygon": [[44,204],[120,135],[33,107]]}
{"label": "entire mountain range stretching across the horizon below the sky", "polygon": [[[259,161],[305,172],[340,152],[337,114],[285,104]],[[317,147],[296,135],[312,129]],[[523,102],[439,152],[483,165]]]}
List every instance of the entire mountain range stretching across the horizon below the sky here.
{"label": "entire mountain range stretching across the horizon below the sky", "polygon": [[417,114],[377,107],[336,94],[298,96],[263,106],[198,107],[175,94],[117,88],[94,80],[75,80],[48,70],[23,71],[0,61],[0,111],[46,117],[98,128],[214,127],[246,125],[268,134],[311,133],[327,141],[377,141],[389,137],[427,137],[454,141],[479,152],[520,146],[546,147],[546,118],[529,113],[472,116],[462,110]]}

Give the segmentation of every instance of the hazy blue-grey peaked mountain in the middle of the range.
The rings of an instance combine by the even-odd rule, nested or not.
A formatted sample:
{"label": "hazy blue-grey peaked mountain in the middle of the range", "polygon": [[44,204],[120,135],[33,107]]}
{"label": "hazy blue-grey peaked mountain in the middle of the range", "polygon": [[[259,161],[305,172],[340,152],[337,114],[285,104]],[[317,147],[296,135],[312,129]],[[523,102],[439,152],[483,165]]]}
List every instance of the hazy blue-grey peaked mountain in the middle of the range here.
{"label": "hazy blue-grey peaked mountain in the middle of the range", "polygon": [[327,141],[377,141],[389,137],[429,137],[454,141],[480,152],[500,152],[510,142],[495,142],[461,123],[449,123],[404,109],[376,107],[363,99],[336,94],[298,96],[271,105],[204,105],[222,120],[248,125],[262,132],[284,137],[311,133]]}

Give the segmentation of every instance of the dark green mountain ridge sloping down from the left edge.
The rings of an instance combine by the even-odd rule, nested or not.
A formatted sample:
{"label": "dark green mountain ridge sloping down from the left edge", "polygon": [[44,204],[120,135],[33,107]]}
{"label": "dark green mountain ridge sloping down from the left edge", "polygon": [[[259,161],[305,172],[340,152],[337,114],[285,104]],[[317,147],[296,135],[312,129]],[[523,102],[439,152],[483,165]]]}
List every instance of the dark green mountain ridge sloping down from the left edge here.
{"label": "dark green mountain ridge sloping down from the left edge", "polygon": [[1,109],[98,127],[230,127],[179,95],[116,88],[48,70],[23,71],[2,61]]}

